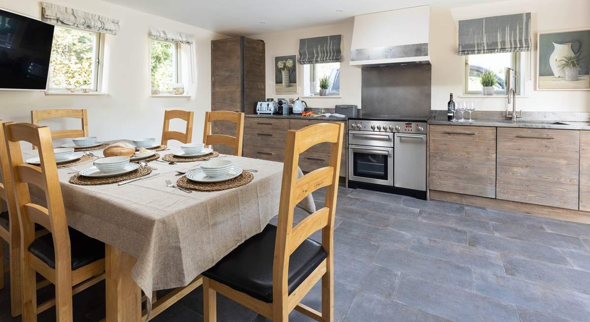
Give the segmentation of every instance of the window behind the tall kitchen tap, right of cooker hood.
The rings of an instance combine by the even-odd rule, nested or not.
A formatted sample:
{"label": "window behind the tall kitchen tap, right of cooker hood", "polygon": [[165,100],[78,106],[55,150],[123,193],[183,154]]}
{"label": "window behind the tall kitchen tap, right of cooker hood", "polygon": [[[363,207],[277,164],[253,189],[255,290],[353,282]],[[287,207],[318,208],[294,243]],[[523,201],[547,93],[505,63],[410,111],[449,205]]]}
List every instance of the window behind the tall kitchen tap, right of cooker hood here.
{"label": "window behind the tall kitchen tap, right of cooker hood", "polygon": [[[496,74],[498,83],[494,86],[494,93],[506,94],[504,82],[506,67],[514,70],[514,74],[520,75],[520,53],[500,52],[497,54],[467,55],[465,58],[465,93],[481,94],[480,75],[486,70]],[[516,94],[520,94],[520,82],[514,83]]]}

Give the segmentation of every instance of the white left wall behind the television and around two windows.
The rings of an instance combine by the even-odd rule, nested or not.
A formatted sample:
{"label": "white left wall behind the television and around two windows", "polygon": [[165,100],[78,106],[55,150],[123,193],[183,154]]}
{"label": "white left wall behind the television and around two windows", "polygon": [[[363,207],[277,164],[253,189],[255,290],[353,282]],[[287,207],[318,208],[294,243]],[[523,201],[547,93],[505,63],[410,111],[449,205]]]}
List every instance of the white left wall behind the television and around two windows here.
{"label": "white left wall behind the television and around two windows", "polygon": [[[30,121],[31,110],[54,108],[88,109],[90,134],[99,140],[156,137],[160,139],[164,110],[195,111],[193,140],[201,142],[205,111],[211,109],[211,40],[223,35],[169,19],[90,0],[53,0],[55,4],[120,19],[117,35],[105,36],[104,83],[107,95],[45,95],[31,91],[0,91],[0,119]],[[41,17],[40,2],[0,0],[0,8]],[[182,31],[195,35],[195,84],[188,84],[192,97],[150,97],[149,28]],[[186,84],[186,83],[185,83]],[[52,128],[79,126],[78,122],[53,121]],[[173,123],[183,129],[181,122]]]}

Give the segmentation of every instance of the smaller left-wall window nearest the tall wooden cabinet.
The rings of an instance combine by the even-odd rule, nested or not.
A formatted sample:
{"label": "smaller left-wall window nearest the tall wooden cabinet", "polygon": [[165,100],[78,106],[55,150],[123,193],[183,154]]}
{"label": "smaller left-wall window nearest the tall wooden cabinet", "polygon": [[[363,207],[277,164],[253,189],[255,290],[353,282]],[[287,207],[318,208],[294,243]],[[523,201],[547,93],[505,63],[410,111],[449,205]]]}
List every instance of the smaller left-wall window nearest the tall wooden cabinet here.
{"label": "smaller left-wall window nearest the tall wooden cabinet", "polygon": [[172,93],[172,84],[181,83],[180,50],[176,42],[152,40],[150,52],[152,57],[152,87],[158,87],[160,93]]}

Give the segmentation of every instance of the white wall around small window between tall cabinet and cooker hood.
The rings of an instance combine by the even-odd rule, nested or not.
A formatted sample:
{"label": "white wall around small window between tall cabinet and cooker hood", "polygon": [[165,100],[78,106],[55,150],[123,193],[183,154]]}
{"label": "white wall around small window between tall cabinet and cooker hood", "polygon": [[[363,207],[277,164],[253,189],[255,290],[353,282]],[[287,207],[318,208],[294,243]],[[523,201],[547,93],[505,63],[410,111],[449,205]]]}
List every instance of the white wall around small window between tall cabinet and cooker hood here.
{"label": "white wall around small window between tall cabinet and cooker hood", "polygon": [[[340,97],[339,98],[302,98],[309,107],[334,108],[336,104],[356,104],[360,106],[360,68],[349,65],[350,42],[352,41],[352,20],[343,24],[322,27],[294,29],[251,36],[264,40],[266,46],[266,97],[297,98],[303,97],[303,68],[298,64],[298,94],[274,93],[274,57],[297,54],[299,40],[327,35],[342,34],[342,62],[340,63]],[[299,59],[299,56],[297,57]]]}

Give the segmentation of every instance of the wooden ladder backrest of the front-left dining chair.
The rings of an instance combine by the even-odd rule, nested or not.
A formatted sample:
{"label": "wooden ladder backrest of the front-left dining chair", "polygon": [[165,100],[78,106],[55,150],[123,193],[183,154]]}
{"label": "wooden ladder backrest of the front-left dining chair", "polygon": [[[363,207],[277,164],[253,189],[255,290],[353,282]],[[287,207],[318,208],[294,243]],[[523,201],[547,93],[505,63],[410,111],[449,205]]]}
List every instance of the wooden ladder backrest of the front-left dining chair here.
{"label": "wooden ladder backrest of the front-left dining chair", "polygon": [[[53,234],[55,270],[71,270],[70,235],[51,131],[47,126],[30,123],[4,123],[4,133],[15,188],[15,201],[19,210],[22,249],[28,249],[34,241],[35,223],[40,224]],[[22,161],[21,141],[31,143],[39,149],[40,166]],[[35,185],[43,190],[47,207],[31,202],[28,185]]]}

